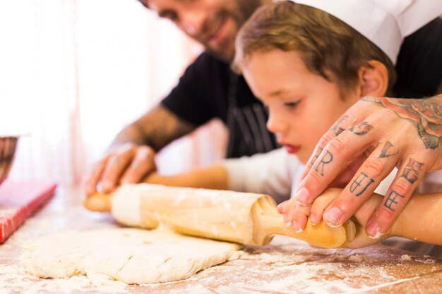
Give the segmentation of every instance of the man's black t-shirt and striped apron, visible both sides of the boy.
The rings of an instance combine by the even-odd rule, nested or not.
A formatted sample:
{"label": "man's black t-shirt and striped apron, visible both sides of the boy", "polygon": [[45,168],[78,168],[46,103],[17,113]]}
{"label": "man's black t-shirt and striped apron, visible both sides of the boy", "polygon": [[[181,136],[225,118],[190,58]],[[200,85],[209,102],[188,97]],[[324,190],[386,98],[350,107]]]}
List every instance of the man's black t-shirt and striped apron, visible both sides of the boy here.
{"label": "man's black t-shirt and striped apron, visible both sides of the boy", "polygon": [[[425,97],[442,79],[442,20],[436,19],[405,39],[396,66],[397,97]],[[244,78],[229,64],[203,53],[186,69],[162,105],[184,121],[202,125],[220,118],[229,129],[227,157],[275,149],[275,137],[265,128],[268,114]]]}

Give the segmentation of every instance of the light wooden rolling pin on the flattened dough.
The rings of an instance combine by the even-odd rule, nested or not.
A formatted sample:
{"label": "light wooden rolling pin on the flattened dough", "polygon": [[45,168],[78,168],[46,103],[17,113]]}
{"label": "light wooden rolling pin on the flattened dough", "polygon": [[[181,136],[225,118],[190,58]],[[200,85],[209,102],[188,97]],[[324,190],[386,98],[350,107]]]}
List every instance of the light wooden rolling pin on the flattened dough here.
{"label": "light wooden rolling pin on the flattened dough", "polygon": [[268,195],[177,188],[153,184],[121,185],[112,195],[100,192],[85,199],[92,211],[112,211],[127,226],[157,228],[160,223],[178,233],[265,245],[273,235],[287,235],[321,247],[341,247],[354,239],[355,226],[347,221],[331,228],[308,221],[301,233],[285,226],[276,203]]}

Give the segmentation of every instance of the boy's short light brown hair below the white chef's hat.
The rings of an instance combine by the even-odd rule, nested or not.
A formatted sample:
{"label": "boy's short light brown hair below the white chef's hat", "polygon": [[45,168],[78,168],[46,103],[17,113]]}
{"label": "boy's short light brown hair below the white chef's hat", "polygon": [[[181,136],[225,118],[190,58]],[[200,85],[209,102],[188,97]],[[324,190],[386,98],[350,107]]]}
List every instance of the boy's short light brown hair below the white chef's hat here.
{"label": "boy's short light brown hair below the white chef's hat", "polygon": [[342,92],[352,89],[358,71],[369,61],[383,63],[388,71],[388,90],[395,69],[388,56],[350,25],[310,6],[280,1],[259,8],[239,31],[234,71],[241,72],[256,51],[297,51],[309,71],[336,82]]}

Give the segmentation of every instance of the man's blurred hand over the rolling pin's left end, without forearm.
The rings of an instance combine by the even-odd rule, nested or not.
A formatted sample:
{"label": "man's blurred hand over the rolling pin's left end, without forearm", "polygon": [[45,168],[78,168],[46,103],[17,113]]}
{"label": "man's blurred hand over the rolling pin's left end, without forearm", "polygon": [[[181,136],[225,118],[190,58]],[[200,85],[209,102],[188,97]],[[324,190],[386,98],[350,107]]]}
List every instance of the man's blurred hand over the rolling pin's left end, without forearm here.
{"label": "man's blurred hand over the rolling pin's left end, without forearm", "polygon": [[95,164],[85,183],[85,194],[92,195],[100,183],[102,192],[112,192],[118,185],[138,183],[156,170],[155,151],[145,145],[125,143],[109,152]]}

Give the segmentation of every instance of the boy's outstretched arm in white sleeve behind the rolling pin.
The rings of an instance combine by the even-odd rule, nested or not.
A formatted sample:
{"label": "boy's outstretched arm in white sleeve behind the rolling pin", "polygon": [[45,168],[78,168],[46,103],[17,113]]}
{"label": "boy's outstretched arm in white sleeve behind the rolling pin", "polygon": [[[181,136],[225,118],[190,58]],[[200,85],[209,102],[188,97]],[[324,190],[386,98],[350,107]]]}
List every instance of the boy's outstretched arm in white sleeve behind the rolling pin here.
{"label": "boy's outstretched arm in white sleeve behind the rolling pin", "polygon": [[220,164],[193,169],[174,176],[152,173],[143,180],[180,187],[255,192],[272,196],[276,202],[287,200],[294,172],[302,166],[285,149],[251,157],[225,159]]}

